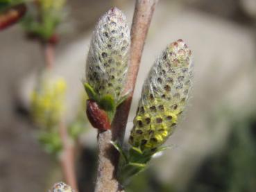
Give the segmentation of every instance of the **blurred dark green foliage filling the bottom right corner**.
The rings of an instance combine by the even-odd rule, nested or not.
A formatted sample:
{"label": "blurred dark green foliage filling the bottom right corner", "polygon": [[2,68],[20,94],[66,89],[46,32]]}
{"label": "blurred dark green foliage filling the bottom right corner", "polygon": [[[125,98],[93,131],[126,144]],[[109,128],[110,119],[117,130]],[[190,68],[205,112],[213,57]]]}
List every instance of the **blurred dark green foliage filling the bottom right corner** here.
{"label": "blurred dark green foliage filling the bottom right corner", "polygon": [[235,119],[227,146],[209,157],[186,191],[256,191],[256,121]]}

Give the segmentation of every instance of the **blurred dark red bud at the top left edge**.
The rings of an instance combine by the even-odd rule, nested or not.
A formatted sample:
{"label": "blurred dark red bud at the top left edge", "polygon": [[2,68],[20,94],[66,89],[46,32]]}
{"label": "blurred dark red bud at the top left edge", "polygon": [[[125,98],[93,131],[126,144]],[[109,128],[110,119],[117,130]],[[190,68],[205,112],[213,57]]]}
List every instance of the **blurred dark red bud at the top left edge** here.
{"label": "blurred dark red bud at the top left edge", "polygon": [[19,4],[17,6],[13,6],[3,12],[0,15],[0,30],[15,24],[19,19],[21,19],[26,12],[26,6],[24,3]]}

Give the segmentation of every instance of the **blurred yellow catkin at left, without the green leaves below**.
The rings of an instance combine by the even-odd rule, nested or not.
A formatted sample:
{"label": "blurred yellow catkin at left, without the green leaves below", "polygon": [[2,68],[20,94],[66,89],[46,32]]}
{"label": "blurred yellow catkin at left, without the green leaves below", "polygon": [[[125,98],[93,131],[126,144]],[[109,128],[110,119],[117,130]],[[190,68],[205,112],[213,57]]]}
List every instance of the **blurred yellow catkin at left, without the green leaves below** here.
{"label": "blurred yellow catkin at left, without the green leaves below", "polygon": [[62,78],[43,78],[31,95],[33,121],[40,128],[57,125],[65,110],[66,82]]}

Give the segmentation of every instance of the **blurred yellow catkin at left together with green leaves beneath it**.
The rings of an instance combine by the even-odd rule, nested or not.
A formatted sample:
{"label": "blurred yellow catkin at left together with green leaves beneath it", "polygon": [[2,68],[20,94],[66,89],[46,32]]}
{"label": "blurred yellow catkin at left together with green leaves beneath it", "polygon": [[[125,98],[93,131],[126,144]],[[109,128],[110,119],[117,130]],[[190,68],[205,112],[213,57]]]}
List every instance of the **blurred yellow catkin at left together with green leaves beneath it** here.
{"label": "blurred yellow catkin at left together with green leaves beneath it", "polygon": [[46,152],[58,155],[62,142],[58,126],[65,111],[66,82],[44,74],[31,96],[31,114],[40,128],[39,141]]}

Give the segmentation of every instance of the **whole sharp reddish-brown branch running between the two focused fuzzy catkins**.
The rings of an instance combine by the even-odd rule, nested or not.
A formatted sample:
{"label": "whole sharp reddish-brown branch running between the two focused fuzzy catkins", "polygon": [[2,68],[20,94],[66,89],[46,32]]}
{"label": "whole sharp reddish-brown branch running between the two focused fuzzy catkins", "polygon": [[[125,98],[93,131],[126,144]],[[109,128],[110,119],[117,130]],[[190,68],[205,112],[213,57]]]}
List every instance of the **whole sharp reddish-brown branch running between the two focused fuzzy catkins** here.
{"label": "whole sharp reddish-brown branch running between the two focused fuzzy catkins", "polygon": [[96,192],[123,191],[123,189],[120,189],[116,178],[119,154],[117,150],[111,146],[110,141],[123,143],[123,136],[126,130],[130,105],[133,100],[133,92],[140,60],[142,58],[144,42],[156,3],[157,0],[137,0],[136,2],[131,29],[130,65],[126,89],[124,91],[130,91],[130,93],[128,99],[117,109],[116,116],[112,123],[112,132],[106,131],[99,133],[99,167],[95,188]]}

